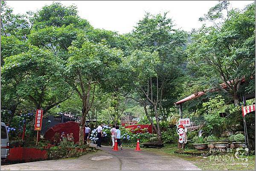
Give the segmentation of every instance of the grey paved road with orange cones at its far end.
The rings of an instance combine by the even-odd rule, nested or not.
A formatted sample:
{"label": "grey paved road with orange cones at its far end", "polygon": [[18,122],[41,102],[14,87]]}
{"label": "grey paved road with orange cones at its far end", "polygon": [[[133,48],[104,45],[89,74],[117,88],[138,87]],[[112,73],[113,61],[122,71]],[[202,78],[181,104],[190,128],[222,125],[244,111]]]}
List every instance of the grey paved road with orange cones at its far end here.
{"label": "grey paved road with orange cones at its far end", "polygon": [[192,163],[163,152],[134,151],[124,148],[113,151],[102,146],[102,151],[77,159],[48,160],[3,165],[1,170],[200,170]]}

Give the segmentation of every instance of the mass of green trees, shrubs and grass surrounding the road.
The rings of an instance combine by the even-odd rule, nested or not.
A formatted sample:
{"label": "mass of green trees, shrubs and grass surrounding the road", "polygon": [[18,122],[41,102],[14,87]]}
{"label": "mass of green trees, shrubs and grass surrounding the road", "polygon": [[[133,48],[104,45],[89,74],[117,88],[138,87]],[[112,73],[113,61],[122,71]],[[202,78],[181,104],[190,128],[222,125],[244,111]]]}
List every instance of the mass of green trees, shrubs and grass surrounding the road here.
{"label": "mass of green trees, shrubs and grass surrounding the road", "polygon": [[[14,14],[1,1],[1,122],[8,126],[11,147],[35,147],[35,111],[43,109],[44,118],[70,113],[79,122],[78,143],[64,143],[61,135],[39,141],[37,148],[47,149],[51,159],[90,151],[84,144],[86,120],[92,143],[99,123],[105,124],[103,144],[110,145],[111,126],[129,121],[152,125],[153,134],[122,126],[126,147],[137,139],[163,142],[166,147],[159,151],[174,154],[180,119],[174,104],[200,91],[204,96],[182,106],[183,118],[194,124],[186,149],[195,151],[193,143],[210,140],[244,142],[241,97],[255,93],[255,3],[239,10],[220,1],[199,18],[204,25],[190,32],[175,29],[167,16],[145,13],[133,31],[119,34],[93,28],[76,6],[54,2]],[[248,165],[174,155],[202,169],[255,169],[255,114],[246,121]]]}

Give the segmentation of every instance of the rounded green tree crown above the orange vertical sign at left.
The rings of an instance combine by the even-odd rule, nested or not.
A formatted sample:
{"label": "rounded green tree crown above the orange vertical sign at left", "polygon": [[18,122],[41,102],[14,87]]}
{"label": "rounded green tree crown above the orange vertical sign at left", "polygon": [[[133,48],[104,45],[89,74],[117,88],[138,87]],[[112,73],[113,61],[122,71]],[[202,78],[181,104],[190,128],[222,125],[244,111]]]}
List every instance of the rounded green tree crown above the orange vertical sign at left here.
{"label": "rounded green tree crown above the orange vertical sign at left", "polygon": [[70,96],[62,73],[61,60],[35,46],[29,46],[25,53],[6,57],[1,70],[3,87],[12,84],[19,97],[30,100],[44,113]]}

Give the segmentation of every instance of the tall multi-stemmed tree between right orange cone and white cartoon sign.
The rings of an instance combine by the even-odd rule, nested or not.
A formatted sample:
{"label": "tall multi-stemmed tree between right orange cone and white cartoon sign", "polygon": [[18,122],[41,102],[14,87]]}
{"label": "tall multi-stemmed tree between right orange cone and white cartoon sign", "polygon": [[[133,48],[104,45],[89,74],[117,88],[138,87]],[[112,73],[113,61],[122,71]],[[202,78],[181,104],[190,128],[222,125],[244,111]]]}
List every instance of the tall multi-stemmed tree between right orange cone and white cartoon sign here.
{"label": "tall multi-stemmed tree between right orange cone and white cartoon sign", "polygon": [[[145,99],[145,101],[140,100],[140,102],[144,106],[146,116],[151,123],[152,120],[148,114],[147,105],[150,105],[152,111],[154,111],[157,123],[154,129],[157,131],[159,141],[161,141],[159,121],[160,119],[167,120],[170,105],[175,102],[178,91],[180,91],[177,88],[176,79],[182,76],[181,64],[185,60],[184,48],[187,37],[186,32],[173,28],[172,20],[167,18],[166,15],[167,13],[155,16],[146,13],[145,17],[138,22],[134,31],[129,35],[132,37],[131,42],[134,42],[134,49],[140,50],[130,53],[131,57],[134,56],[134,63],[131,66],[137,67],[137,71],[140,69],[140,74],[145,77],[145,79],[140,80],[140,88],[137,88],[137,90],[135,88],[135,90],[139,98]],[[135,64],[140,60],[143,61],[143,65],[150,66],[154,63],[154,60],[149,62],[141,55],[146,55],[151,60],[157,59],[158,62],[153,65],[154,69],[151,69],[154,74],[151,73],[152,75],[150,75],[144,66],[143,69],[142,66],[136,66],[142,65],[141,63]],[[139,56],[139,59],[136,59],[135,56]],[[148,74],[150,77],[148,77]],[[130,78],[134,79],[132,76]],[[130,81],[133,82],[134,80]],[[142,83],[142,81],[145,82]]]}

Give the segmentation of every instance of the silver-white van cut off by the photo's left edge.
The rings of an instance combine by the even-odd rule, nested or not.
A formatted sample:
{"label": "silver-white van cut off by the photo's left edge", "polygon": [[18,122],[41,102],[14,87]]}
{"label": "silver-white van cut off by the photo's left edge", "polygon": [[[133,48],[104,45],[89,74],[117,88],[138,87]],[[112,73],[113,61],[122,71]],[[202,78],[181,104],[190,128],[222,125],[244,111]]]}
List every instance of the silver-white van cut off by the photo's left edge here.
{"label": "silver-white van cut off by the photo's left edge", "polygon": [[9,136],[6,124],[1,122],[1,159],[6,159],[9,155]]}

